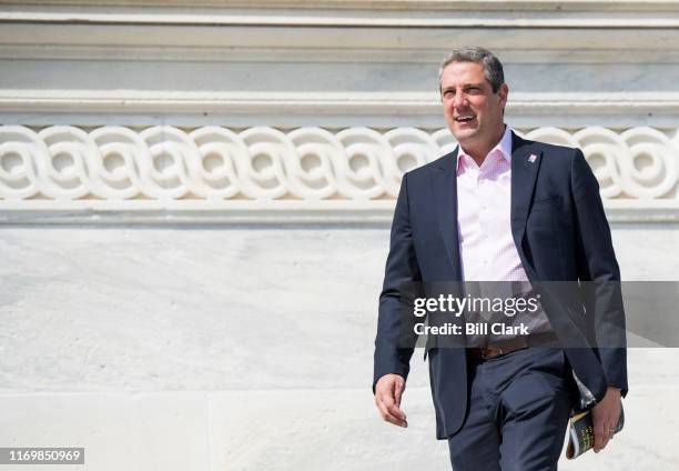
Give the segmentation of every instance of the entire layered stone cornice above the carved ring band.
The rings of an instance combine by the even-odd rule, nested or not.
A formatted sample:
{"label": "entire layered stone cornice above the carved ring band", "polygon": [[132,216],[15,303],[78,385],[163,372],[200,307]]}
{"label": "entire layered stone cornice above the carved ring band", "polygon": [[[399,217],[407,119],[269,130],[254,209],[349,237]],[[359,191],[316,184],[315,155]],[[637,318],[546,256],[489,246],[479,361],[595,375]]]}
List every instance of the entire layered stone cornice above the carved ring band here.
{"label": "entire layered stone cornice above the carved ring band", "polygon": [[[672,128],[679,3],[0,0],[0,123],[433,129],[450,48],[501,58],[520,128]],[[652,77],[652,80],[648,80]]]}

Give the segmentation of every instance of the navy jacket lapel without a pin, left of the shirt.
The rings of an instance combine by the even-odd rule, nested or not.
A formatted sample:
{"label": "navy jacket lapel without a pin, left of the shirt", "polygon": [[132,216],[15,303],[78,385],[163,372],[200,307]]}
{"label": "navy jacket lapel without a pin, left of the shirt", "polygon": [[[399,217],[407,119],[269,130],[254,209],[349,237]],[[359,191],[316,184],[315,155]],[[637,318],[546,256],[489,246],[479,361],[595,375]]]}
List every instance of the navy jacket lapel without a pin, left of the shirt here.
{"label": "navy jacket lapel without a pin, left of the shirt", "polygon": [[440,159],[432,184],[432,199],[436,208],[438,228],[443,237],[453,279],[462,280],[459,241],[457,237],[457,151]]}

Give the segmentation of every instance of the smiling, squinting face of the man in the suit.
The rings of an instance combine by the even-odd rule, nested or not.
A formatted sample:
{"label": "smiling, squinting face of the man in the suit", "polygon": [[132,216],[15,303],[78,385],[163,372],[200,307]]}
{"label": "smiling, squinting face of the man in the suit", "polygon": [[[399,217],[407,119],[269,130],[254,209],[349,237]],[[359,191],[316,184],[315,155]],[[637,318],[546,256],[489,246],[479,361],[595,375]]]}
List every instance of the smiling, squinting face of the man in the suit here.
{"label": "smiling, squinting face of the man in the suit", "polygon": [[443,71],[440,90],[446,123],[460,146],[489,149],[497,143],[507,84],[494,93],[482,63],[452,62]]}

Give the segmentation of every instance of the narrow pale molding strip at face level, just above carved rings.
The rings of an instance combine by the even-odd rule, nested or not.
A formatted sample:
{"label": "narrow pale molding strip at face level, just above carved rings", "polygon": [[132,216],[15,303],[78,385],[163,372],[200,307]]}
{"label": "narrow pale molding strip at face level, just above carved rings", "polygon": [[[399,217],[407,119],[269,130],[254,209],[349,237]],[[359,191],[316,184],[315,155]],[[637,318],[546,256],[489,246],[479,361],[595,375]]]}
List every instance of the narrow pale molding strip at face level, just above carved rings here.
{"label": "narrow pale molding strip at face level, just above carved rings", "polygon": [[[0,90],[0,122],[140,127],[162,121],[193,128],[217,121],[230,128],[250,128],[266,120],[284,128],[312,122],[323,128],[430,129],[444,124],[436,78],[432,76],[429,92]],[[673,92],[513,92],[510,97],[508,121],[521,128],[535,128],[535,123],[580,128],[584,122],[629,128],[650,121],[652,127],[665,129],[673,128],[679,116],[679,93]]]}

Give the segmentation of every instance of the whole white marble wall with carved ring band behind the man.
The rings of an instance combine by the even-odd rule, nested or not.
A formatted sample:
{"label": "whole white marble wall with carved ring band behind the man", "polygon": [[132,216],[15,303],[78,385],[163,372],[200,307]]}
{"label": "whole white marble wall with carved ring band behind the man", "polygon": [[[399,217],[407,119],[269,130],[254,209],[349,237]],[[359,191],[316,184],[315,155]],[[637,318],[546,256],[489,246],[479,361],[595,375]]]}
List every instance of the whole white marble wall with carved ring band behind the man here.
{"label": "whole white marble wall with carved ring band behind the man", "polygon": [[[455,146],[456,46],[504,60],[521,134],[584,149],[624,278],[677,280],[678,2],[53,0],[0,24],[0,447],[449,469],[419,353],[407,430],[369,385],[399,179]],[[629,357],[625,432],[563,469],[679,465],[679,357]]]}

